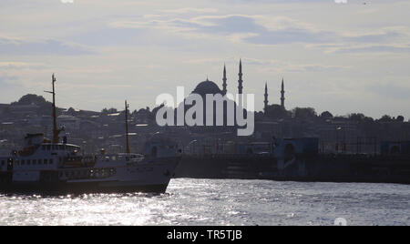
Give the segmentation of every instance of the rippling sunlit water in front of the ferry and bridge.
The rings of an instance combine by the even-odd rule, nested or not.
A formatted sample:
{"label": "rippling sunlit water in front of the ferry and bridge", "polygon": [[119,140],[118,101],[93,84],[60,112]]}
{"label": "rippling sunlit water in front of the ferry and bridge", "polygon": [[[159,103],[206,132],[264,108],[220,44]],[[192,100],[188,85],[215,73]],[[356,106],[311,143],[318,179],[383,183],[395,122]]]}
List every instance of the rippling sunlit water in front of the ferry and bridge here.
{"label": "rippling sunlit water in front of the ferry and bridge", "polygon": [[172,179],[165,194],[0,195],[0,225],[409,225],[410,186]]}

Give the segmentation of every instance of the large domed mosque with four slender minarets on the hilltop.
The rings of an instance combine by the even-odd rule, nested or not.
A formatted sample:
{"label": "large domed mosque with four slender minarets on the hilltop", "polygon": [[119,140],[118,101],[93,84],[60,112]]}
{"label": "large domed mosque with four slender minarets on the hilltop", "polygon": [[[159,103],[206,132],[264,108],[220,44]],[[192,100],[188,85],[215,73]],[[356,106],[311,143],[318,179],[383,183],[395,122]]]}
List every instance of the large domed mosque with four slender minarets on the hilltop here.
{"label": "large domed mosque with four slender minarets on the hilltop", "polygon": [[[190,131],[190,133],[197,133],[198,135],[215,135],[218,137],[222,136],[223,137],[229,137],[229,135],[233,135],[233,137],[236,137],[237,132],[239,129],[247,128],[248,127],[248,122],[251,121],[248,119],[248,116],[250,113],[248,113],[245,109],[242,107],[239,107],[235,101],[231,101],[230,99],[226,98],[223,99],[223,108],[222,108],[222,114],[218,113],[217,111],[220,112],[220,102],[216,102],[215,97],[212,97],[212,101],[207,102],[207,95],[221,95],[221,97],[225,96],[228,94],[227,90],[227,72],[226,72],[226,66],[223,66],[223,76],[222,76],[222,89],[220,89],[220,86],[218,86],[215,82],[210,81],[208,78],[205,81],[200,82],[188,95],[188,97],[185,97],[183,101],[181,101],[178,105],[178,107],[174,108],[174,125],[179,125],[180,123],[183,123],[182,125],[187,126],[186,129]],[[240,60],[239,63],[239,73],[238,73],[238,90],[235,92],[230,92],[231,95],[235,96],[236,94],[242,95],[243,94],[243,73],[242,73],[242,62]],[[263,117],[272,117],[274,115],[279,113],[286,113],[285,109],[285,97],[284,97],[285,91],[284,91],[284,80],[282,79],[282,91],[281,91],[281,104],[280,105],[275,105],[275,104],[269,104],[268,101],[268,84],[265,83],[265,90],[264,90],[264,107],[263,107],[263,113],[262,112],[256,112],[253,114],[254,117],[259,117],[258,120],[261,121]],[[197,96],[200,96],[202,99],[197,99]],[[245,95],[245,94],[243,94]],[[197,97],[197,98],[195,98]],[[197,104],[197,103],[202,103],[202,104]],[[244,102],[244,107],[247,106],[247,101],[245,100]],[[207,109],[210,107],[207,106],[213,106],[213,109]],[[200,109],[198,109],[200,107]],[[194,108],[194,109],[190,109]],[[219,109],[219,110],[217,110]],[[200,110],[202,110],[203,114],[200,113]],[[210,110],[210,111],[209,111]],[[233,110],[233,113],[232,113]],[[179,111],[183,111],[183,117],[181,117],[181,114],[179,114]],[[238,123],[239,117],[237,116],[237,113],[243,112],[243,119],[246,121],[245,126],[243,126],[243,123]],[[213,113],[213,114],[212,114]],[[223,118],[220,117],[222,115]],[[187,120],[184,119],[186,117],[191,117],[192,120],[190,120],[190,124],[187,123]],[[210,118],[211,117],[211,118]],[[211,120],[212,119],[212,120]],[[243,122],[244,120],[241,119]],[[233,122],[232,122],[233,120]],[[194,126],[192,125],[192,121],[194,121]],[[210,121],[213,123],[210,126]],[[254,121],[254,120],[253,120]],[[202,122],[202,123],[200,123]],[[217,123],[218,122],[218,123]],[[259,123],[260,124],[260,123]],[[260,127],[258,122],[255,124],[255,129],[256,127]],[[263,123],[262,123],[263,124]],[[266,123],[265,123],[266,124]],[[242,126],[239,126],[242,125]],[[263,124],[264,125],[264,124]],[[253,127],[253,126],[252,126]],[[272,127],[270,127],[272,129]],[[263,130],[263,129],[262,129]],[[231,137],[231,136],[230,136]],[[237,139],[237,138],[235,138]]]}

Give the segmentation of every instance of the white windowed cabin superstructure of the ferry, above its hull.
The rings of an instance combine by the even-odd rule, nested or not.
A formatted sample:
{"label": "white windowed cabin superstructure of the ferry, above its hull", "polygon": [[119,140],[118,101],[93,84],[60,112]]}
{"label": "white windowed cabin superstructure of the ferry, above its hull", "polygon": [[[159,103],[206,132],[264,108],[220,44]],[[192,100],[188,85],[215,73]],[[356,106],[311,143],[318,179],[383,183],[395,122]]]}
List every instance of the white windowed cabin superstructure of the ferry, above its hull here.
{"label": "white windowed cabin superstructure of the ferry, above its hull", "polygon": [[0,158],[0,182],[56,182],[76,179],[104,179],[117,175],[117,168],[152,167],[138,154],[82,156],[80,147],[49,143],[43,134],[27,135],[22,151]]}

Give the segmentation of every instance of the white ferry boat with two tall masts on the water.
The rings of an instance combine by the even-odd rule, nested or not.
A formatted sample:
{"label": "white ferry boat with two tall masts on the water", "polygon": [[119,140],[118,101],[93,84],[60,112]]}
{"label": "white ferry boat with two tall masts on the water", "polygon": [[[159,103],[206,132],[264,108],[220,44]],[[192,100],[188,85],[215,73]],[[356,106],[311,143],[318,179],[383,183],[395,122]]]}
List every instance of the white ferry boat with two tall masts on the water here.
{"label": "white ferry boat with two tall masts on the water", "polygon": [[68,144],[66,138],[59,141],[55,81],[53,75],[53,140],[43,134],[28,134],[23,150],[0,157],[0,192],[165,192],[180,160],[176,145],[165,139],[152,141],[146,145],[149,155],[143,156],[129,153],[127,140],[127,153],[82,155],[80,147]]}

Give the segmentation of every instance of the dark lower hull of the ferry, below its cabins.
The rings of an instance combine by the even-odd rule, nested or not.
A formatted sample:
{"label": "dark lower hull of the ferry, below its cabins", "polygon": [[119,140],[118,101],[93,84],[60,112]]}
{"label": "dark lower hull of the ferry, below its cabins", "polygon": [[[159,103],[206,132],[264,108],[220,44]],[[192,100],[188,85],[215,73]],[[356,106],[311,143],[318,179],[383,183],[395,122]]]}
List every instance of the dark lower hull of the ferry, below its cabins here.
{"label": "dark lower hull of the ferry, below its cabins", "polygon": [[[156,158],[155,162],[139,167],[117,168],[118,175],[104,179],[54,181],[14,181],[13,172],[0,172],[0,192],[5,194],[67,195],[89,193],[164,193],[172,178],[179,157]],[[139,168],[152,168],[150,172]],[[57,172],[56,172],[57,173]]]}

